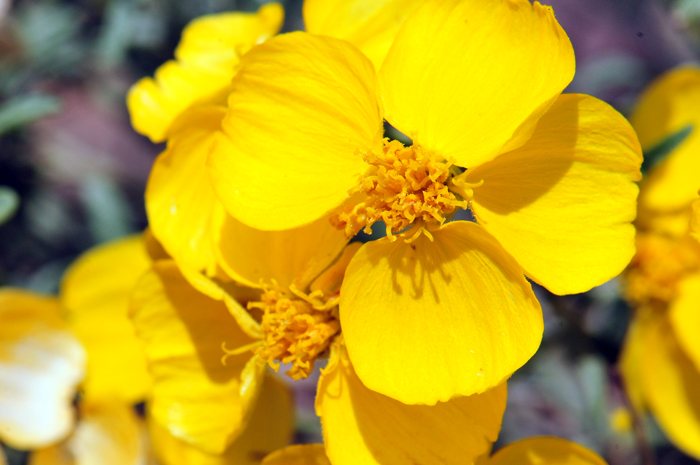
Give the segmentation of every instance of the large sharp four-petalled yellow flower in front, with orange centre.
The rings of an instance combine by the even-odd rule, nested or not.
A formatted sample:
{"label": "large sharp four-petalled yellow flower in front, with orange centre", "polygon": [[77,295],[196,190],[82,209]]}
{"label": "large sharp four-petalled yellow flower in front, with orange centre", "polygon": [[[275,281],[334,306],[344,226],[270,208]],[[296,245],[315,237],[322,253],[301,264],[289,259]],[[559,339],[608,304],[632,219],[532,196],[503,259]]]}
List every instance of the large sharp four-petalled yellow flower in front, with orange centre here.
{"label": "large sharp four-petalled yellow flower in front, with orange centre", "polygon": [[[603,102],[561,95],[573,73],[551,9],[525,0],[424,2],[378,75],[346,41],[277,36],[234,77],[214,191],[259,229],[384,221],[401,240],[361,248],[341,290],[357,375],[412,404],[484,392],[540,343],[524,274],[581,292],[634,253],[636,135]],[[383,139],[384,120],[413,145]],[[467,206],[478,224],[443,224]]]}

